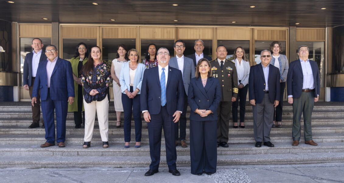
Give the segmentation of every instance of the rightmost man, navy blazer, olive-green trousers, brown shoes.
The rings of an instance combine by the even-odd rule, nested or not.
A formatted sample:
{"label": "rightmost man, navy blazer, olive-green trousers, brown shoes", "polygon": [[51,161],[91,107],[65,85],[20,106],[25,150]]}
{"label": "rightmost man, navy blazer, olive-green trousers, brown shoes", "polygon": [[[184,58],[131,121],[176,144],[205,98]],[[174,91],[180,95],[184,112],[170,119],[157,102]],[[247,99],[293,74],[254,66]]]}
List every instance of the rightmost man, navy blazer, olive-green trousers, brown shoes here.
{"label": "rightmost man, navy blazer, olive-green trousers, brown shoes", "polygon": [[314,102],[319,100],[320,94],[319,68],[316,62],[308,59],[308,46],[300,46],[298,55],[299,60],[290,63],[287,75],[288,103],[293,105],[292,146],[299,145],[302,112],[304,143],[318,146],[318,144],[312,140],[311,119]]}

